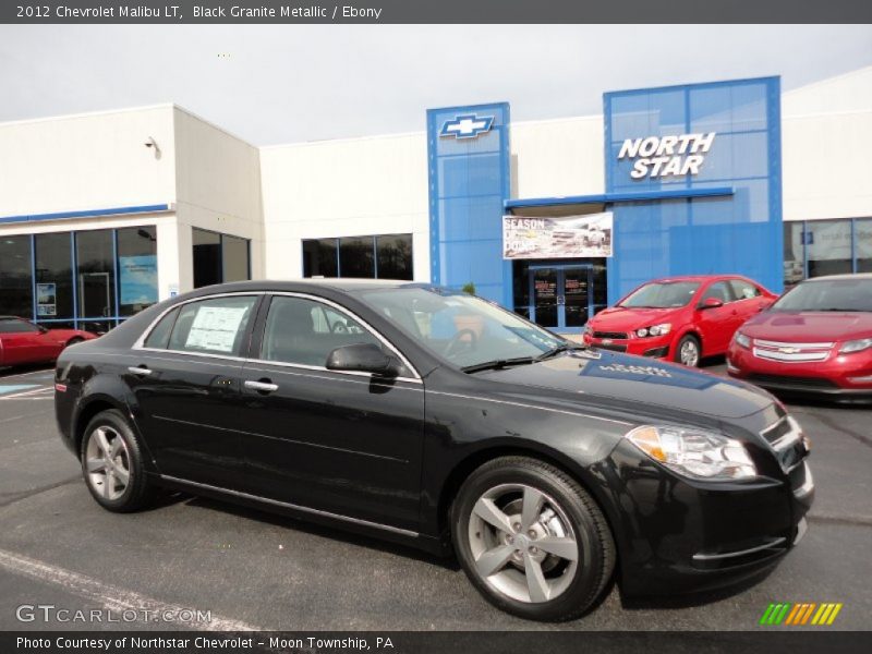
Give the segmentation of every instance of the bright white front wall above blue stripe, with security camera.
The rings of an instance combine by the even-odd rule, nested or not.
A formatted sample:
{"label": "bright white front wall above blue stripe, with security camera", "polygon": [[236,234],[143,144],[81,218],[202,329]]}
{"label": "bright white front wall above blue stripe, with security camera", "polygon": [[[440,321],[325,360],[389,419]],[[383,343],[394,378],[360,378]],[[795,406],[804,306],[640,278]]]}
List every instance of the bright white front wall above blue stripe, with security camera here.
{"label": "bright white front wall above blue stripe, with security camera", "polygon": [[0,216],[175,199],[169,105],[0,123]]}

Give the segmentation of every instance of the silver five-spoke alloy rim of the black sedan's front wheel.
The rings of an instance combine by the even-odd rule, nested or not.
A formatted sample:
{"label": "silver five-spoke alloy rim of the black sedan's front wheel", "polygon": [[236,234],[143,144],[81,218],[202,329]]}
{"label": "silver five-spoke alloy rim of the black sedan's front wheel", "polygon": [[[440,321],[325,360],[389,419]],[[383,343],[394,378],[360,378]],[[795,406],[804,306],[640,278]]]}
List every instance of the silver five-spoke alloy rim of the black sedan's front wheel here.
{"label": "silver five-spoke alloy rim of the black sedan's front wheel", "polygon": [[469,522],[475,572],[512,600],[543,603],[576,578],[579,543],[550,496],[525,484],[501,484],[475,502]]}

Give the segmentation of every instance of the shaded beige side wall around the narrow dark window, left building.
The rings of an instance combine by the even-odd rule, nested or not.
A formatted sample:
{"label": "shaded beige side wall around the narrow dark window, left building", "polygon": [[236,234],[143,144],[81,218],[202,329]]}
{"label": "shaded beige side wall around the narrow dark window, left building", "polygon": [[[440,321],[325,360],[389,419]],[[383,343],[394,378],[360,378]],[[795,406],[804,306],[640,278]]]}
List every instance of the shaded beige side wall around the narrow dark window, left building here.
{"label": "shaded beige side wall around the narrow dark window, left building", "polygon": [[253,278],[264,276],[261,162],[256,147],[175,107],[179,284],[193,284],[191,228],[251,240]]}

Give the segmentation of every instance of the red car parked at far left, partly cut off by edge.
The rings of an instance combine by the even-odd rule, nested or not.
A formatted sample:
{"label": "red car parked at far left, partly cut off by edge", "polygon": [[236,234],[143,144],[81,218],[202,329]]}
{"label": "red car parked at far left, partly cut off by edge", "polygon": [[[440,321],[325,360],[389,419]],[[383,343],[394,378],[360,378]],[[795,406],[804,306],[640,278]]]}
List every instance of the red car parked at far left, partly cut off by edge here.
{"label": "red car parked at far left, partly cut off by edge", "polygon": [[63,349],[97,338],[81,329],[46,329],[24,318],[0,316],[0,366],[55,361]]}

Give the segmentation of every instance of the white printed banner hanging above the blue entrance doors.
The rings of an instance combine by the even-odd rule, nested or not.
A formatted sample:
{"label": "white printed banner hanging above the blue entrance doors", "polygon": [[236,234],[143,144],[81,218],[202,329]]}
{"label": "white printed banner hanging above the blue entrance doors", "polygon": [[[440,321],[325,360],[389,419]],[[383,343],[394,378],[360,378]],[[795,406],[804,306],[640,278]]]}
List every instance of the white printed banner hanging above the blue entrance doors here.
{"label": "white printed banner hanging above the blue entrance doors", "polygon": [[564,218],[502,217],[502,258],[608,257],[611,211]]}

